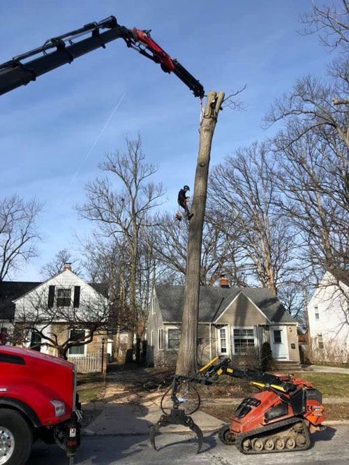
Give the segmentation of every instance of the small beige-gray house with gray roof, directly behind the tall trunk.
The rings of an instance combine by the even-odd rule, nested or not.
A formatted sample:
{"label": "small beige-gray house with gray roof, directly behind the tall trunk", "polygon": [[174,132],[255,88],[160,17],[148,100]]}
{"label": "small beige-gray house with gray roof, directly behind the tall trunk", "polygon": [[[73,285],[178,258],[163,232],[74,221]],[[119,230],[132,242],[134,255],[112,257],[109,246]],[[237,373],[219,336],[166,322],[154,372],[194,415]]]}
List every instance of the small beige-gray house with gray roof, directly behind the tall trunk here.
{"label": "small beige-gray house with gray roof, directly behind the tall trunk", "polygon": [[[168,346],[168,334],[181,328],[183,299],[181,286],[154,288],[147,323],[148,364],[176,364],[178,348]],[[281,346],[278,334],[284,350],[278,359],[299,362],[297,322],[276,296],[259,288],[200,288],[199,364],[223,355],[230,357],[233,364],[256,367],[265,341],[277,353]],[[163,342],[159,344],[161,335]]]}

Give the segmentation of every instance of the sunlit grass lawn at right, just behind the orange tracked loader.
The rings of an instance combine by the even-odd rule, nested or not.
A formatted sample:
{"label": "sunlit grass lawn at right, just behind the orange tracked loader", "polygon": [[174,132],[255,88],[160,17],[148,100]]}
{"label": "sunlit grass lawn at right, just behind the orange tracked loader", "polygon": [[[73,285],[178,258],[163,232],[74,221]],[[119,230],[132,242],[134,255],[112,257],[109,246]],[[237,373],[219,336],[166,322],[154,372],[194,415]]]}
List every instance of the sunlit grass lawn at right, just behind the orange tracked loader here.
{"label": "sunlit grass lawn at right, just behind the orange tracked loader", "polygon": [[339,373],[297,373],[297,378],[309,381],[322,397],[349,397],[349,374]]}

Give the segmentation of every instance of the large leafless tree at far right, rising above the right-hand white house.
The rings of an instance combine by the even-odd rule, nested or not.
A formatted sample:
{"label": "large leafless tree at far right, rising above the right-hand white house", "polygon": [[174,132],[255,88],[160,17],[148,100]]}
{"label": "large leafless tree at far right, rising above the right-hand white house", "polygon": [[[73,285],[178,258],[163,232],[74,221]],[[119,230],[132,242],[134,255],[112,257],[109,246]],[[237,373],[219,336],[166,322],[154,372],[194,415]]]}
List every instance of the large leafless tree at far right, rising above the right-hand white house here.
{"label": "large leafless tree at far right, rising above the right-hand white house", "polygon": [[275,182],[283,191],[278,205],[302,238],[303,260],[321,272],[344,267],[349,258],[348,167],[317,134],[307,133],[287,148],[285,138],[288,132],[274,141],[279,148]]}

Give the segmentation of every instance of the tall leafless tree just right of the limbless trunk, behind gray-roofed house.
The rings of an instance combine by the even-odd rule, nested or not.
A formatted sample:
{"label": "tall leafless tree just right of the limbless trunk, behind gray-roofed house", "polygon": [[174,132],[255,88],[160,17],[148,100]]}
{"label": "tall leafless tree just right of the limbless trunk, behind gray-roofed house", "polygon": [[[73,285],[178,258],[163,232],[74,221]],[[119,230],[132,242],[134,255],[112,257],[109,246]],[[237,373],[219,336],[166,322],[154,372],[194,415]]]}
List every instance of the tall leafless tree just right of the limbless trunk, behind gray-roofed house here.
{"label": "tall leafless tree just right of the limbless trunk, behind gray-roofed house", "polygon": [[212,170],[210,189],[212,205],[223,212],[221,228],[230,228],[255,278],[277,293],[293,270],[296,243],[289,221],[275,207],[272,168],[265,147],[255,143]]}

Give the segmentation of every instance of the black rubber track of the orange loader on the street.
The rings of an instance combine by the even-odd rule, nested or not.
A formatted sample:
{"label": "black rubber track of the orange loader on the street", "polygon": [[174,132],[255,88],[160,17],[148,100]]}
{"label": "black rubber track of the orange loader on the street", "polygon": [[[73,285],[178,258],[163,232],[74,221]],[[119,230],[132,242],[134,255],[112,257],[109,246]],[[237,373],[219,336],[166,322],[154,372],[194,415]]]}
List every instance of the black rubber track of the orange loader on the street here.
{"label": "black rubber track of the orange loader on the street", "polygon": [[[267,436],[265,436],[265,433],[267,431],[273,431],[274,430],[273,434],[277,434],[277,431],[276,431],[277,429],[282,429],[284,426],[295,425],[296,423],[299,423],[299,422],[302,422],[304,431],[306,432],[306,443],[304,444],[304,446],[302,448],[299,448],[296,445],[296,447],[294,449],[286,449],[286,448],[283,449],[283,450],[276,450],[276,449],[274,449],[274,450],[265,450],[265,449],[263,449],[260,452],[258,450],[244,450],[242,448],[242,442],[247,438],[258,438],[258,435],[260,434],[260,436],[263,439],[266,439]],[[288,418],[287,420],[283,420],[281,422],[273,423],[272,425],[268,425],[268,426],[265,426],[265,427],[262,427],[262,428],[253,429],[253,431],[250,431],[249,433],[239,435],[237,437],[237,441],[236,441],[235,444],[237,446],[237,449],[240,452],[242,452],[243,454],[245,454],[245,455],[273,454],[273,453],[276,453],[276,452],[297,452],[299,450],[306,450],[306,449],[309,448],[309,446],[310,446],[310,437],[309,437],[309,430],[306,427],[306,422],[304,422],[304,420],[302,420],[302,418],[294,417],[294,418]]]}

